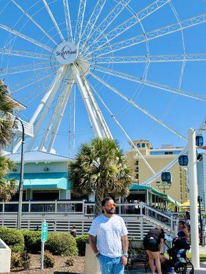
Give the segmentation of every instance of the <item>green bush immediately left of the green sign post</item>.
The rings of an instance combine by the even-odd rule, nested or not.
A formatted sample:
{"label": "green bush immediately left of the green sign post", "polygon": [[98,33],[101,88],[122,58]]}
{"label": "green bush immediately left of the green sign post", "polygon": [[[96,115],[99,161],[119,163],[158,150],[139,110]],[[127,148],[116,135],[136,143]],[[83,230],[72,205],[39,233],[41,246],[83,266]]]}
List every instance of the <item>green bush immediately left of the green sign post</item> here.
{"label": "green bush immediately left of the green sign post", "polygon": [[38,253],[41,251],[41,232],[22,230],[21,231],[24,237],[25,250],[28,253]]}

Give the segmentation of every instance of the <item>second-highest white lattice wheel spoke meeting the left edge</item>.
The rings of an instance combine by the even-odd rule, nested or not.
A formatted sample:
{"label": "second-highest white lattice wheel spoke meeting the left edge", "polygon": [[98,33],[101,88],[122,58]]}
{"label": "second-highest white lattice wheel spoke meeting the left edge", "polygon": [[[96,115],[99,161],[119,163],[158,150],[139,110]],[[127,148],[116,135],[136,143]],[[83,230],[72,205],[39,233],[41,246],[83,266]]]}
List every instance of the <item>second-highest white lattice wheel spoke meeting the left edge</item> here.
{"label": "second-highest white lattice wheel spoke meeting the left edge", "polygon": [[5,49],[5,47],[0,48],[0,53],[5,55],[14,55],[19,57],[25,58],[35,58],[35,59],[42,59],[42,60],[50,60],[50,55],[43,54],[43,53],[35,53],[32,51],[19,51],[16,49]]}

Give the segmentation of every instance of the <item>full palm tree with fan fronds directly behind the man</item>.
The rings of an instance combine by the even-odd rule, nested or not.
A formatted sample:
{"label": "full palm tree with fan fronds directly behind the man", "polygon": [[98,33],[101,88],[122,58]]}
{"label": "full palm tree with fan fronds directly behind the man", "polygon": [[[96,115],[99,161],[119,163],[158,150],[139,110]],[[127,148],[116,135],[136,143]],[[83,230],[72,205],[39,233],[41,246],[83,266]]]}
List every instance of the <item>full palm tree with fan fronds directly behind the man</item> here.
{"label": "full palm tree with fan fronds directly behind the man", "polygon": [[117,141],[93,138],[81,145],[75,160],[69,162],[71,191],[79,195],[95,192],[95,215],[101,212],[101,201],[112,195],[126,197],[132,184],[126,158]]}

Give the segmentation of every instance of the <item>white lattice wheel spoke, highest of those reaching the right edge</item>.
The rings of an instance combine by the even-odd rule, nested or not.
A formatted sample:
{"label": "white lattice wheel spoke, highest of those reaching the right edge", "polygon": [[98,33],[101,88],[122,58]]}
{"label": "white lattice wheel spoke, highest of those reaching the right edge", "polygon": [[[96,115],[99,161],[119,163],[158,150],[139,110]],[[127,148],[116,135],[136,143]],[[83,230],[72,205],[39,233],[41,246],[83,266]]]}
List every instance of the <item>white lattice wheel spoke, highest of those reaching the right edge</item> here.
{"label": "white lattice wheel spoke, highest of those reaching the right edge", "polygon": [[[155,29],[152,32],[148,32],[146,34],[146,36],[148,37],[147,39],[145,37],[145,34],[141,34],[138,36],[134,36],[132,38],[128,38],[126,40],[115,42],[114,44],[106,46],[106,47],[104,47],[104,46],[99,47],[98,49],[91,51],[91,53],[93,54],[96,51],[100,51],[100,49],[101,49],[102,51],[104,51],[104,53],[100,54],[100,56],[106,55],[106,54],[113,53],[113,52],[116,52],[116,51],[119,51],[122,49],[126,49],[128,47],[133,47],[135,45],[141,44],[142,42],[146,42],[146,40],[149,41],[149,40],[153,40],[155,38],[166,36],[168,34],[172,34],[174,32],[179,32],[181,29],[187,29],[189,27],[193,27],[195,25],[205,23],[205,21],[206,21],[206,14],[202,14],[200,16],[195,16],[195,17],[189,18],[185,21],[182,21],[181,22],[182,27],[180,27],[180,23],[175,23],[172,25],[168,25],[166,27],[161,27],[159,29]],[[113,48],[113,50],[109,51],[110,48]]]}

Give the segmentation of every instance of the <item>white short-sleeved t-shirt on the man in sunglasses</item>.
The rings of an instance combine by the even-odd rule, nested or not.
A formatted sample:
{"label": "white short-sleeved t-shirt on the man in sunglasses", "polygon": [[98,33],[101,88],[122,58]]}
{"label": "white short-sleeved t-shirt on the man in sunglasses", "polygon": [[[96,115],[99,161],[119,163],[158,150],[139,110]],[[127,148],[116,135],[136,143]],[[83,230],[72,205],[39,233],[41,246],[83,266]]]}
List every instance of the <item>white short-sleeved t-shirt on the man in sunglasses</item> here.
{"label": "white short-sleeved t-shirt on the man in sunglasses", "polygon": [[89,234],[97,236],[98,251],[102,255],[111,258],[122,256],[121,237],[128,234],[122,217],[113,215],[111,218],[107,218],[101,214],[93,220]]}

